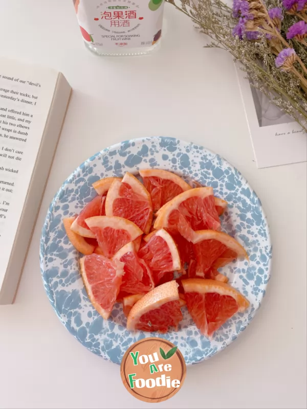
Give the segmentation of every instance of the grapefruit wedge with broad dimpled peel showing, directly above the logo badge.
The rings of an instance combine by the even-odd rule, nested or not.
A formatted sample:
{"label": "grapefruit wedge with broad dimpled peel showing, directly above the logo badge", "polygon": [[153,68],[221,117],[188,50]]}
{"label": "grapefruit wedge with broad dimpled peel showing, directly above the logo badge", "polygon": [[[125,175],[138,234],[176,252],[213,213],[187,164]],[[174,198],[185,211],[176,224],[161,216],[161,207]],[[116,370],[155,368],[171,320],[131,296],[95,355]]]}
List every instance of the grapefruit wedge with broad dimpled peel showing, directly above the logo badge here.
{"label": "grapefruit wedge with broad dimpled peel showing, directly above the logo badge", "polygon": [[176,281],[159,285],[147,292],[132,308],[127,318],[127,330],[165,333],[168,327],[178,328],[183,319]]}

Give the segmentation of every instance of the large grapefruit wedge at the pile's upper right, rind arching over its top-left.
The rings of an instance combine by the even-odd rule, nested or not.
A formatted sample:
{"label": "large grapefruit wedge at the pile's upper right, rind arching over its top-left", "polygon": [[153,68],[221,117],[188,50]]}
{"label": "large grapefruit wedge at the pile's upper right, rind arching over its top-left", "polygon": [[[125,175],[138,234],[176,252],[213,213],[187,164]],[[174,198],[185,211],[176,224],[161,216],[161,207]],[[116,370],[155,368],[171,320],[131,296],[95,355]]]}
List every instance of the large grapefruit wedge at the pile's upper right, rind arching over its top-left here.
{"label": "large grapefruit wedge at the pile's upper right, rind arching over its top-left", "polygon": [[220,230],[221,222],[215,209],[213,189],[190,189],[174,197],[157,212],[154,228],[178,231],[189,241],[193,231]]}

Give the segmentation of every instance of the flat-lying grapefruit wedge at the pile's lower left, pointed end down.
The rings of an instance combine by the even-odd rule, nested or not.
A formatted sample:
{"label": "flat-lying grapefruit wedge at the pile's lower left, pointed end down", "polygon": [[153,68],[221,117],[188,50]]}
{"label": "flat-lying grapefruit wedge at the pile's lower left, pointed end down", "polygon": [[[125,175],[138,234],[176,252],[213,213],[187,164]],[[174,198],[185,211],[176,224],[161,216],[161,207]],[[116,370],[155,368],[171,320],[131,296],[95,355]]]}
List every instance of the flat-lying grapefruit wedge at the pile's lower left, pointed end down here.
{"label": "flat-lying grapefruit wedge at the pile's lower left, pointed end down", "polygon": [[93,307],[107,320],[124,274],[123,264],[92,254],[80,259],[81,276]]}

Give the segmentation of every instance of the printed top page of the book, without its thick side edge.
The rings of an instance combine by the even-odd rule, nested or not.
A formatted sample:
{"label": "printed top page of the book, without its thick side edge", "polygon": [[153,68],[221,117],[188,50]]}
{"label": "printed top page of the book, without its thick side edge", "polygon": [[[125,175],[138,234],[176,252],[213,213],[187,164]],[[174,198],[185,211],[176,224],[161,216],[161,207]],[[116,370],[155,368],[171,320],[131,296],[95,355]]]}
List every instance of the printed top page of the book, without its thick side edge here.
{"label": "printed top page of the book, without its thick side edge", "polygon": [[0,284],[23,211],[57,76],[53,70],[0,59]]}

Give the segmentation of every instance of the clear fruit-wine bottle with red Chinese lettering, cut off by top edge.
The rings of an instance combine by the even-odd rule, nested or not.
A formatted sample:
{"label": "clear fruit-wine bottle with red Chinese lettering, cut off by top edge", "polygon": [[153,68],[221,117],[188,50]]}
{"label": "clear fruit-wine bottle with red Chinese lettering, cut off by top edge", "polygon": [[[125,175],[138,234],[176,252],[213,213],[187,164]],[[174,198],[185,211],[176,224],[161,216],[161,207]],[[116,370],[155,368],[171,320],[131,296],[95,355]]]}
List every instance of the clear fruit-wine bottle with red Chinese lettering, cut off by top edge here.
{"label": "clear fruit-wine bottle with red Chinese lettering, cut off by top edge", "polygon": [[73,0],[86,46],[99,55],[140,55],[155,50],[165,0]]}

